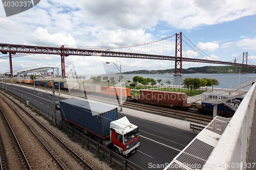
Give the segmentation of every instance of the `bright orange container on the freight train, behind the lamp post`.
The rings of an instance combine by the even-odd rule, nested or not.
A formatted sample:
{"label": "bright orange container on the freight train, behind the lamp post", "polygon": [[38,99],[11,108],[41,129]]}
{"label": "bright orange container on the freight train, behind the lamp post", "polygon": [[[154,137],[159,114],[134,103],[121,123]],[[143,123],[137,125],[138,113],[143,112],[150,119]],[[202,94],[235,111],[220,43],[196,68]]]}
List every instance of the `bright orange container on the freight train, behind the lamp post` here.
{"label": "bright orange container on the freight train, behind the lamp post", "polygon": [[[103,86],[101,88],[102,94],[108,95],[108,96],[116,96],[121,94],[121,88],[120,87],[110,87],[110,86]],[[122,88],[122,97],[127,97],[131,95],[131,88]]]}

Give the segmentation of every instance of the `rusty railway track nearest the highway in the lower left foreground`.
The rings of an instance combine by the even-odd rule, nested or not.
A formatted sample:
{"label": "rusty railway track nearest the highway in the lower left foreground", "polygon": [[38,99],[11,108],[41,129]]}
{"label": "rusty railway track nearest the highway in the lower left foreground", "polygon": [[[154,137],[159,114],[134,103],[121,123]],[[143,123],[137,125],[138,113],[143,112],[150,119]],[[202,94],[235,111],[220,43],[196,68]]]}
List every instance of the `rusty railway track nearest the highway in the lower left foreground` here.
{"label": "rusty railway track nearest the highway in the lower left foreground", "polygon": [[[7,98],[3,95],[2,98],[5,98],[4,101],[9,104],[9,107],[12,108],[12,117],[17,117],[17,115],[19,117],[19,120],[17,120],[17,118],[13,119],[13,123],[11,123],[12,126],[22,124],[19,128],[16,129],[24,131],[26,128],[26,132],[29,133],[27,138],[32,140],[32,144],[30,143],[29,145],[36,146],[36,148],[34,148],[33,150],[32,148],[26,148],[26,140],[22,138],[19,139],[19,142],[23,141],[25,143],[22,144],[24,146],[22,148],[26,148],[27,154],[25,152],[25,155],[27,157],[30,157],[30,153],[28,153],[27,150],[32,150],[32,152],[34,151],[34,153],[40,150],[39,155],[33,155],[33,158],[37,158],[38,160],[41,158],[40,161],[34,161],[31,160],[31,158],[28,158],[28,162],[32,162],[30,163],[31,167],[36,168],[39,166],[40,168],[43,169],[93,169],[86,161],[84,161],[80,156],[78,156],[74,151],[72,151],[72,149],[70,149],[57,136],[55,136],[50,130],[48,130],[44,125],[42,125],[29,112],[20,107],[10,98]],[[17,124],[17,122],[20,122],[20,119],[22,120],[22,123]],[[24,133],[17,131],[16,134]],[[45,152],[47,152],[47,154]],[[40,156],[42,154],[44,154],[44,156]],[[42,164],[40,165],[39,162],[41,162]]]}

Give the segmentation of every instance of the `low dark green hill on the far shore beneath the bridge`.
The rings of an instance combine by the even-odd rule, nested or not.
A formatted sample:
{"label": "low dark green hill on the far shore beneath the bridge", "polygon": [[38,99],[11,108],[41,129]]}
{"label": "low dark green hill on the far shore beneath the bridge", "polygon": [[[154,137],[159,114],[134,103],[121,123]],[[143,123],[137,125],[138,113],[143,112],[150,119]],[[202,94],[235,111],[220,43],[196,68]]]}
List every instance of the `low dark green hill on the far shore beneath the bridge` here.
{"label": "low dark green hill on the far shore beneath the bridge", "polygon": [[[191,67],[187,69],[182,69],[183,74],[238,74],[239,69],[242,71],[241,66],[227,65],[227,66],[203,66],[203,67]],[[175,69],[159,69],[159,70],[136,70],[136,71],[126,71],[122,74],[171,74],[174,73]],[[247,67],[248,73],[255,73],[256,68]]]}

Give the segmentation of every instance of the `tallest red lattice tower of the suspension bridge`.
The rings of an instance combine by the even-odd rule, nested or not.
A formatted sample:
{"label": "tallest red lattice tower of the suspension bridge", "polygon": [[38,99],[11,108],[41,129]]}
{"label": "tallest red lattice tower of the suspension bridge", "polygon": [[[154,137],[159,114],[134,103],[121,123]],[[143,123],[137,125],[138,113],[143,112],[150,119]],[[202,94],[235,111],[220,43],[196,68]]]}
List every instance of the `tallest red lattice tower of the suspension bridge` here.
{"label": "tallest red lattice tower of the suspension bridge", "polygon": [[176,33],[175,45],[175,73],[174,76],[183,76],[182,74],[182,32]]}

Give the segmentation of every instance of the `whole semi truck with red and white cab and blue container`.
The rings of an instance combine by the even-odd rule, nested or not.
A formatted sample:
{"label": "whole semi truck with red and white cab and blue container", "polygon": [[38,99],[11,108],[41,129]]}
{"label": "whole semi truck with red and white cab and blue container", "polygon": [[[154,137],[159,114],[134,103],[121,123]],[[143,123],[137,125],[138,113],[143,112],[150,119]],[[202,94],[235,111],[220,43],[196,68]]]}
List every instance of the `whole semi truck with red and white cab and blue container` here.
{"label": "whole semi truck with red and white cab and blue container", "polygon": [[139,129],[117,108],[77,99],[59,101],[62,122],[72,124],[119,155],[134,153],[140,145]]}

